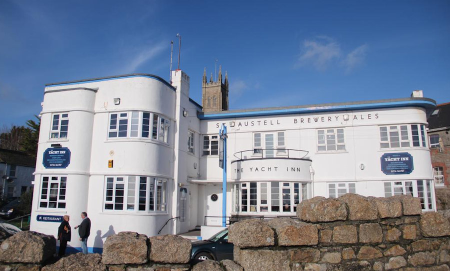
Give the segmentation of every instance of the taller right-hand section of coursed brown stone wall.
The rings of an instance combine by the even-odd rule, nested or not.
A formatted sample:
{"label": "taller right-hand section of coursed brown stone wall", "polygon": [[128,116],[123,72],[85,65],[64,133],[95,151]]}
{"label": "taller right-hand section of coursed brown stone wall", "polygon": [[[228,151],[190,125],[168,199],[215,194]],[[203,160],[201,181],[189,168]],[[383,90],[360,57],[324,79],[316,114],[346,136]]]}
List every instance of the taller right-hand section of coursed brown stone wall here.
{"label": "taller right-hand section of coursed brown stone wall", "polygon": [[418,198],[314,197],[297,217],[232,224],[234,260],[245,271],[450,270],[450,222]]}

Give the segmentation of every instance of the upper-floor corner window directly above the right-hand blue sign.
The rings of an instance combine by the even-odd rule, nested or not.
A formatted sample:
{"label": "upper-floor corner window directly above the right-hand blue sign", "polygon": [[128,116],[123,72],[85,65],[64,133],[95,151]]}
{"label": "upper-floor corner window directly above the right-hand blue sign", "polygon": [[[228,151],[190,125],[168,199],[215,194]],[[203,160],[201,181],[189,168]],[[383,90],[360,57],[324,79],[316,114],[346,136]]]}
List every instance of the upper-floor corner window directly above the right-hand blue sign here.
{"label": "upper-floor corner window directly above the right-hand blue sign", "polygon": [[389,125],[379,127],[380,148],[426,146],[425,125]]}

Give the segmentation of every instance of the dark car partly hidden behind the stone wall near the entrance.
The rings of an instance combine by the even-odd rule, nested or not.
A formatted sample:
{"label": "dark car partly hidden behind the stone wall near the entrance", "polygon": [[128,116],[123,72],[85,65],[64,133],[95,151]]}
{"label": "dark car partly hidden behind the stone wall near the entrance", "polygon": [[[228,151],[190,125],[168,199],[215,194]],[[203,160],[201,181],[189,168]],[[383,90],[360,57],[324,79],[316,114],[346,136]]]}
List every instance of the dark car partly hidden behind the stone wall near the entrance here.
{"label": "dark car partly hidden behind the stone wall near the entrance", "polygon": [[193,262],[233,259],[233,244],[228,242],[228,229],[219,231],[207,240],[192,242],[190,258]]}

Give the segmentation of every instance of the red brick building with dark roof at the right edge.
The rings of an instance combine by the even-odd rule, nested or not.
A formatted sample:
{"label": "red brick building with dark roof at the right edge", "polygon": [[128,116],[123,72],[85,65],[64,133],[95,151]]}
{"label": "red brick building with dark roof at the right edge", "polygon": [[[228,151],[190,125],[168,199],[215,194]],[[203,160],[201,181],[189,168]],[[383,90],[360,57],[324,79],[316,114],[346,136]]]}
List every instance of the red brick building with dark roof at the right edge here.
{"label": "red brick building with dark roof at the right edge", "polygon": [[437,208],[450,207],[450,102],[438,104],[428,117],[428,136]]}

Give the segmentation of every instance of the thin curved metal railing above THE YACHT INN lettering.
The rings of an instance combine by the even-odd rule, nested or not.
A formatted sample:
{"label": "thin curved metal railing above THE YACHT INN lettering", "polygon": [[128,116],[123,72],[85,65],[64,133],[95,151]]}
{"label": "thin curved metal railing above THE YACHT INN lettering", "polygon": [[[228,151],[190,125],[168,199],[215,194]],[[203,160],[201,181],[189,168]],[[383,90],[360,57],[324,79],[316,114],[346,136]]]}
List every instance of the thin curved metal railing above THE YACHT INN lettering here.
{"label": "thin curved metal railing above THE YACHT INN lettering", "polygon": [[260,158],[297,158],[301,159],[308,154],[308,151],[290,148],[254,148],[242,150],[234,153],[238,160],[260,159]]}

